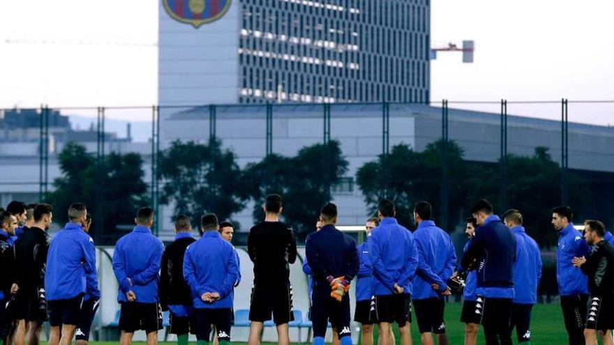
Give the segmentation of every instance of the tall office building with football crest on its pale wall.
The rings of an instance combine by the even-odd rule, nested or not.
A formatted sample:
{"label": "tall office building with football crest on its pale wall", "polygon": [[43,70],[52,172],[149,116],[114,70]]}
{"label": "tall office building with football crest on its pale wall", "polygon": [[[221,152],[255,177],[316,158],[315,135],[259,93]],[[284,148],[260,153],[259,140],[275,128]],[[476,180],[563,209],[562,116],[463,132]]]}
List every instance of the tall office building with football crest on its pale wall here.
{"label": "tall office building with football crest on its pale wall", "polygon": [[426,102],[429,0],[162,0],[161,105]]}

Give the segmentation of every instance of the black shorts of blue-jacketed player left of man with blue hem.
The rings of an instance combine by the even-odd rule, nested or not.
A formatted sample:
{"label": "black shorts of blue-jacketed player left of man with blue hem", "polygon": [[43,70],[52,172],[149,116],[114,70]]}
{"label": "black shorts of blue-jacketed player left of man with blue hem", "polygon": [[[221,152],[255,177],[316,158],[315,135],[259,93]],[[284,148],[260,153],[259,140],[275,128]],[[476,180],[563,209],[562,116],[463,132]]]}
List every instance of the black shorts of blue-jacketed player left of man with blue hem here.
{"label": "black shorts of blue-jacketed player left of man with blue hem", "polygon": [[119,329],[133,333],[144,330],[146,333],[162,329],[162,309],[158,303],[121,302]]}

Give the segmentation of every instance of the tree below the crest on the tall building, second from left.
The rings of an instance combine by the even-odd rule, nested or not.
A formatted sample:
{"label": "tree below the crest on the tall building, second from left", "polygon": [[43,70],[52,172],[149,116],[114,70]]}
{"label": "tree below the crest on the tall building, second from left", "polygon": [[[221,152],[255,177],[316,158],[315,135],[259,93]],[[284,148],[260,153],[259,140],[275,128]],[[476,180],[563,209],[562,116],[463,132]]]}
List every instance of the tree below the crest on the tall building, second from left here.
{"label": "tree below the crest on the tall building, second from left", "polygon": [[159,159],[164,181],[160,203],[174,204],[176,214],[184,213],[200,224],[205,213],[228,220],[245,208],[248,195],[241,187],[241,169],[234,153],[222,150],[219,140],[208,145],[173,141]]}

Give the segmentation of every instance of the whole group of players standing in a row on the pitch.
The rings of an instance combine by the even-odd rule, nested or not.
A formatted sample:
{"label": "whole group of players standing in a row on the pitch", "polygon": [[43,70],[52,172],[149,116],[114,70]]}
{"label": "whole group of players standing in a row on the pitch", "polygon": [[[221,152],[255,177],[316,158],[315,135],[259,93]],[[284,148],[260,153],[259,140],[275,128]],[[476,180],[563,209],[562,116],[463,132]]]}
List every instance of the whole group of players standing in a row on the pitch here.
{"label": "whole group of players standing in a row on the pitch", "polygon": [[[292,229],[280,222],[282,199],[271,194],[264,202],[264,222],[248,236],[254,263],[250,297],[250,345],[259,345],[264,322],[272,319],[280,345],[290,344],[288,323],[294,320],[290,263],[297,259]],[[457,263],[450,236],[436,227],[426,201],[414,207],[417,229],[398,224],[390,200],[380,202],[377,217],[366,223],[367,240],[357,243],[336,229],[337,207],[320,211],[317,231],[306,241],[304,272],[310,275],[310,320],[313,344],[324,344],[327,325],[334,342],[351,344],[350,282],[357,277],[354,320],[363,328],[361,343],[373,344],[379,325],[380,345],[393,345],[391,324],[398,323],[400,342],[411,344],[411,305],[422,344],[449,344],[444,323],[446,296],[463,282],[465,301],[461,321],[465,344],[476,344],[478,325],[486,344],[530,343],[530,316],[537,302],[541,256],[537,243],[525,233],[518,210],[502,219],[482,199],[467,219],[469,236]],[[89,328],[100,300],[96,252],[88,235],[91,217],[84,204],[68,209],[69,222],[53,239],[46,230],[52,206],[26,206],[13,201],[0,214],[0,345],[38,344],[40,326],[50,322],[50,345],[87,344]],[[559,231],[557,282],[569,344],[612,344],[614,318],[613,236],[604,224],[585,222],[583,234],[571,223],[571,210],[553,209]],[[166,248],[151,233],[153,210],[140,208],[136,227],[117,241],[113,270],[119,282],[120,344],[130,344],[136,330],[145,330],[147,343],[157,343],[162,311],[170,311],[170,332],[179,345],[188,333],[198,345],[209,343],[214,329],[220,345],[230,344],[234,319],[234,288],[241,281],[239,255],[230,244],[233,226],[216,215],[202,216],[202,238],[192,234],[190,220],[179,215],[174,243]],[[462,285],[462,284],[461,284]]]}

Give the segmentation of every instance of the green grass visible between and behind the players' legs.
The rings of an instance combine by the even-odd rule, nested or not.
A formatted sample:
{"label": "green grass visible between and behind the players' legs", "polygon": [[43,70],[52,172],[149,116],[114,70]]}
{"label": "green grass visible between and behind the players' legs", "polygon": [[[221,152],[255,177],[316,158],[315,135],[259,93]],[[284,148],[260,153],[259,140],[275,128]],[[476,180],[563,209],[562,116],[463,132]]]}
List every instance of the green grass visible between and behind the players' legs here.
{"label": "green grass visible between and behind the players' legs", "polygon": [[[462,345],[465,339],[465,324],[461,323],[461,303],[448,303],[446,305],[446,328],[450,340],[450,344]],[[413,315],[415,321],[416,316]],[[398,336],[398,328],[395,328],[396,344],[400,344]],[[516,332],[512,336],[514,344],[516,343]],[[539,345],[560,345],[567,344],[567,332],[563,323],[563,315],[560,305],[557,303],[551,305],[536,305],[533,307],[531,321],[531,343]],[[412,339],[413,344],[420,344],[420,335],[416,323],[412,323]],[[41,343],[43,344],[43,343]],[[119,342],[90,342],[91,345],[117,345]],[[142,345],[144,342],[135,342],[135,345]],[[161,345],[174,345],[177,343],[167,342],[160,343]],[[233,343],[245,344],[245,343]],[[377,330],[375,331],[375,344],[377,344]],[[478,344],[484,344],[484,335],[479,332]],[[45,344],[46,345],[46,344]],[[274,345],[273,343],[262,343],[262,345]]]}

